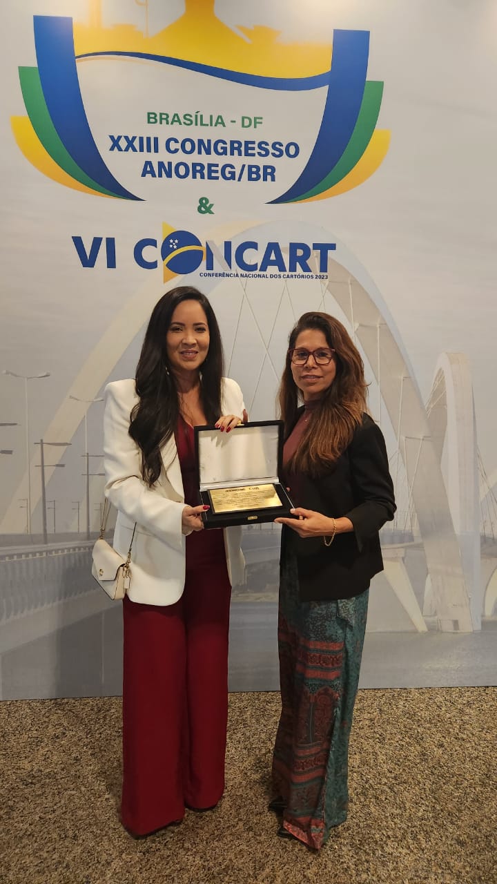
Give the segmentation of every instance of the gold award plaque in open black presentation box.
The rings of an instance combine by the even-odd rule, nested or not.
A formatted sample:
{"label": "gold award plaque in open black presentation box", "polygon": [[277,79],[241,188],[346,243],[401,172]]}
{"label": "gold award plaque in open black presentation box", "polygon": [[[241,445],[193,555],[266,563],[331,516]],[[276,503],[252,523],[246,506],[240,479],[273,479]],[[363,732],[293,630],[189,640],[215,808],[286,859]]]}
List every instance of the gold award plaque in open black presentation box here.
{"label": "gold award plaque in open black presentation box", "polygon": [[195,455],[205,528],[251,525],[290,516],[279,481],[283,422],[241,423],[229,433],[195,427]]}

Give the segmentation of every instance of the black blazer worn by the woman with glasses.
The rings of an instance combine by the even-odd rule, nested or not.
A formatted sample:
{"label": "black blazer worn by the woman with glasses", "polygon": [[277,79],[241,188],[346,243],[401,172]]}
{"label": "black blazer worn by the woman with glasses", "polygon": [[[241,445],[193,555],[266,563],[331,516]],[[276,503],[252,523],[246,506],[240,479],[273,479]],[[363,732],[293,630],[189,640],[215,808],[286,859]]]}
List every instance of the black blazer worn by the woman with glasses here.
{"label": "black blazer worn by the woman with glasses", "polygon": [[359,595],[383,570],[378,531],[395,512],[385,439],[369,415],[363,415],[362,425],[334,468],[317,479],[300,475],[299,488],[296,506],[335,518],[347,516],[354,525],[354,531],[337,534],[330,546],[325,546],[323,537],[299,537],[284,526],[281,554],[285,556],[287,544],[292,545],[301,600]]}

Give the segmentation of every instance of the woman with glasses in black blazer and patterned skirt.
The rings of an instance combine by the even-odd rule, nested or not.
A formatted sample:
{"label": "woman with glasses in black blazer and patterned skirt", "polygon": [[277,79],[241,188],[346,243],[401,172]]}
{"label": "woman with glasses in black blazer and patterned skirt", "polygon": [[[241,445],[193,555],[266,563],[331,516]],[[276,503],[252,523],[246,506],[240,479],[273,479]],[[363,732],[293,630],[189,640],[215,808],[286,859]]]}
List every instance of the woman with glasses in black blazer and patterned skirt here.
{"label": "woman with glasses in black blazer and patterned skirt", "polygon": [[[363,360],[344,326],[305,313],[279,391],[283,467],[296,504],[283,523],[281,716],[270,808],[279,835],[319,849],[347,819],[348,737],[378,530],[394,518],[385,440],[366,414]],[[303,406],[299,408],[299,400]],[[298,517],[298,518],[295,518]]]}

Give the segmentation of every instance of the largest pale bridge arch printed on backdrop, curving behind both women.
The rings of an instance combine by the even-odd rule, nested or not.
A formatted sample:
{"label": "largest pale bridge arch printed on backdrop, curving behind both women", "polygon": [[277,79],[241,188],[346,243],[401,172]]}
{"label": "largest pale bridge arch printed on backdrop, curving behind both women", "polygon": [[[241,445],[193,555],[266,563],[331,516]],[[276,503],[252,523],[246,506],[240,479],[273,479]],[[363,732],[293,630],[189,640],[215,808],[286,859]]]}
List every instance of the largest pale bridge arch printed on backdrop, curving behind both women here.
{"label": "largest pale bridge arch printed on backdrop, curving behind both women", "polygon": [[[233,240],[249,238],[258,241],[259,237],[279,240],[282,243],[335,240],[333,235],[321,225],[310,225],[301,221],[279,221],[277,224],[260,224],[251,227],[239,224],[229,229],[213,230],[207,235],[217,241],[225,238]],[[405,353],[400,334],[385,302],[362,265],[338,241],[335,254],[337,260],[329,261],[327,278],[323,284],[318,283],[312,288],[309,286],[306,290],[304,309],[325,308],[333,312],[334,305],[338,304],[352,333],[363,348],[378,384],[378,418],[381,419],[382,409],[385,408],[394,428],[405,466],[409,496],[417,514],[426,563],[432,578],[433,600],[440,629],[470,631],[477,623],[473,621],[471,615],[470,593],[440,468],[440,456],[432,438],[432,428],[409,357]],[[188,277],[188,281],[200,284],[207,293],[216,285],[213,280],[197,280],[194,274]],[[180,282],[181,278],[176,277],[173,285],[179,285]],[[243,305],[243,299],[248,300],[246,286],[241,285],[241,280],[235,281],[233,286],[237,286],[238,292],[241,286]],[[72,438],[83,418],[86,406],[84,403],[70,400],[69,396],[87,400],[96,397],[110,377],[120,356],[126,351],[142,324],[146,322],[151,307],[162,291],[164,286],[159,284],[154,273],[149,281],[141,286],[141,290],[123,304],[96,347],[88,354],[75,381],[66,391],[65,399],[45,431],[47,438],[54,441]],[[302,304],[302,297],[299,301],[295,296],[295,303],[297,302]],[[250,304],[248,307],[255,316],[255,308]],[[265,307],[267,309],[267,303]],[[285,335],[280,334],[281,341],[286,338],[289,327],[288,310],[285,313],[284,308],[285,303],[281,295],[271,334],[264,337],[264,330],[260,330],[261,339],[264,339],[265,354],[271,363],[274,375],[277,372],[272,362],[271,347],[274,339],[280,334],[277,327],[280,316],[285,322],[286,329]],[[263,369],[259,377],[263,383]],[[61,456],[62,454],[63,451],[60,451]],[[50,477],[50,470],[48,474]],[[3,527],[13,521],[17,513],[17,499],[23,496],[22,486],[26,483],[27,476],[24,476],[12,496]],[[36,503],[34,496],[33,506]]]}

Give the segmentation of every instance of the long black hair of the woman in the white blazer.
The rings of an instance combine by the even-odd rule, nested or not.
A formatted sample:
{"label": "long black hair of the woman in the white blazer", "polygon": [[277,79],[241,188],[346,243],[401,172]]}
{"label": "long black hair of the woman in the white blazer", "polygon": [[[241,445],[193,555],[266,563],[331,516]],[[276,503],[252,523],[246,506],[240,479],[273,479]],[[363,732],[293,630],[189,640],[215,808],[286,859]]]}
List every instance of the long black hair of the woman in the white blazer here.
{"label": "long black hair of the woman in the white blazer", "polygon": [[200,399],[209,423],[221,414],[224,356],[218,320],[203,293],[192,286],[178,286],[165,293],[152,310],[136,366],[139,401],[131,412],[129,435],[141,449],[141,476],[148,485],[160,476],[161,448],[171,438],[180,416],[178,388],[167,361],[166,334],[181,301],[198,301],[207,317],[210,343],[202,363]]}

